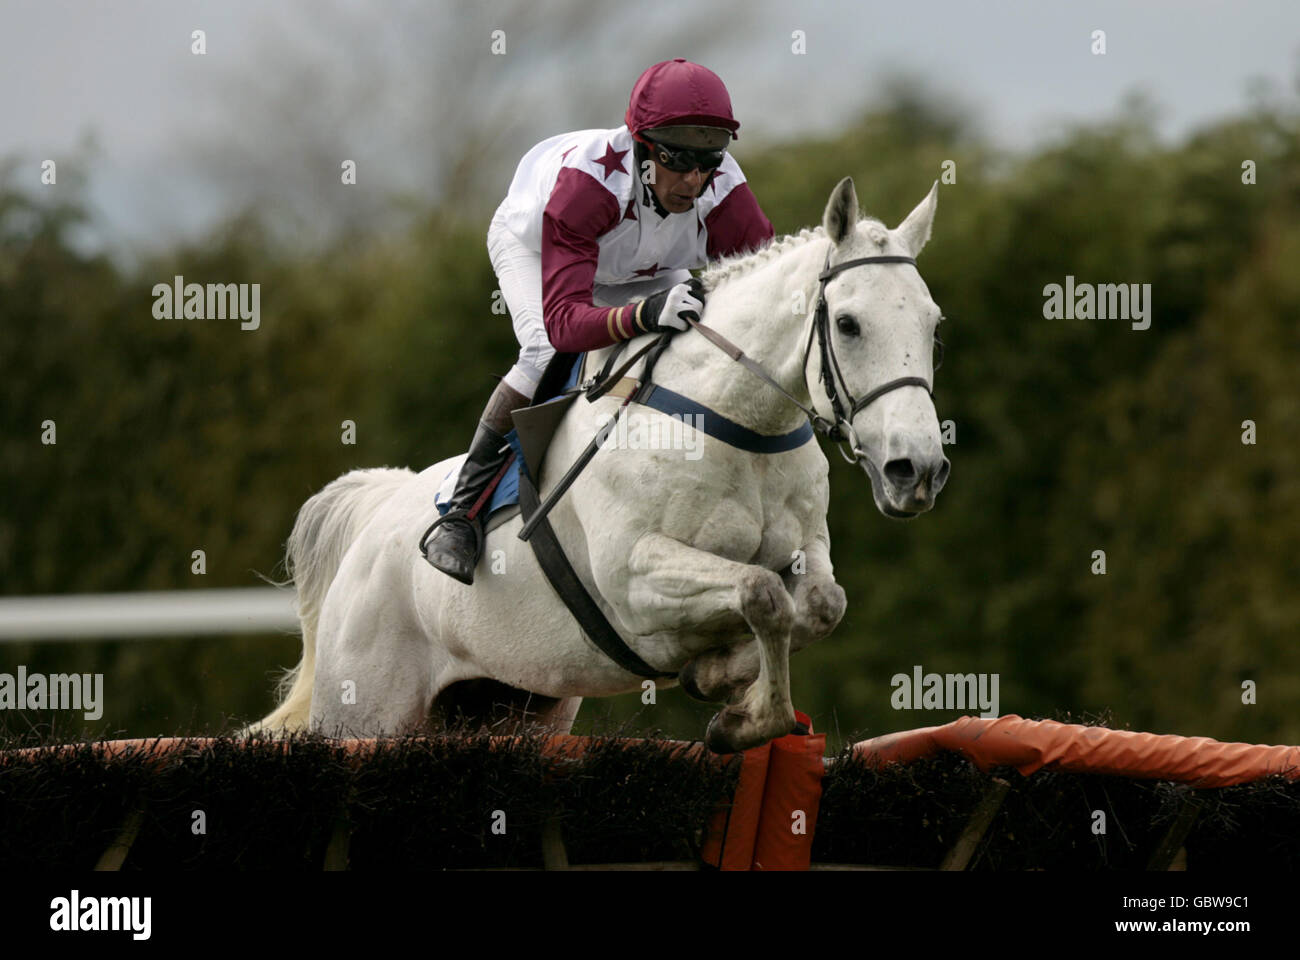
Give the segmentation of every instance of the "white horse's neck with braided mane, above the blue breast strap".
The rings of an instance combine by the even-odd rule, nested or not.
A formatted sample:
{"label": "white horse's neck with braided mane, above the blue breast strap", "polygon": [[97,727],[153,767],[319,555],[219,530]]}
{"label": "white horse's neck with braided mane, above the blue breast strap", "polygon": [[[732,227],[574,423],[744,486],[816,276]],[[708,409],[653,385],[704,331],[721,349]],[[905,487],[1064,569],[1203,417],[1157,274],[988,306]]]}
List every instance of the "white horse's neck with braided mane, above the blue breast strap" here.
{"label": "white horse's neck with braided mane, above the blue breast strap", "polygon": [[[805,406],[803,349],[826,246],[810,241],[794,247],[714,289],[705,307],[708,327],[757,360]],[[798,291],[803,294],[802,315],[793,312]],[[806,419],[786,397],[692,330],[672,338],[654,380],[759,433],[785,433]]]}

